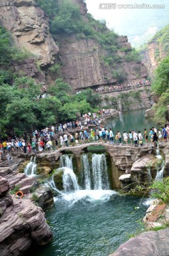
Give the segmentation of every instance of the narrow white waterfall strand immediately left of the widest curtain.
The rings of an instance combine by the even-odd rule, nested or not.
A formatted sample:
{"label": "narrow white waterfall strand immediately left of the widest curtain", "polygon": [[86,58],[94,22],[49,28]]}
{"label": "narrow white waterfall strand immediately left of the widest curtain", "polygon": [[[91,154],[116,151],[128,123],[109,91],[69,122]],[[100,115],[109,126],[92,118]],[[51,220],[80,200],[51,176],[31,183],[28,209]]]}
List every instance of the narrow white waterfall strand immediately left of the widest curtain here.
{"label": "narrow white waterfall strand immediately left of the widest curtain", "polygon": [[88,160],[87,154],[82,155],[82,166],[83,166],[83,173],[84,173],[84,189],[90,190],[91,178],[90,178],[90,167],[89,167],[89,160]]}

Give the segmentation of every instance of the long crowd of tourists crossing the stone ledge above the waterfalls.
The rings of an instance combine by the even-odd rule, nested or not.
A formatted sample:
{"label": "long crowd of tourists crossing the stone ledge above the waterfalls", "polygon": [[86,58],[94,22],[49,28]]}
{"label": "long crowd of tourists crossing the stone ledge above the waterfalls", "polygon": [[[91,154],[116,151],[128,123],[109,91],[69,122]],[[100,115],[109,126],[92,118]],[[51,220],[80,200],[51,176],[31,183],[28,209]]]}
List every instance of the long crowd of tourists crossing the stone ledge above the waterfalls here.
{"label": "long crowd of tourists crossing the stone ledge above the waterfalls", "polygon": [[[88,117],[88,115],[87,115]],[[84,117],[85,118],[85,117]],[[79,128],[79,129],[78,129]],[[144,139],[144,142],[143,142]],[[32,134],[26,134],[25,137],[9,137],[6,141],[0,142],[0,161],[1,154],[4,152],[9,162],[12,161],[11,152],[20,151],[23,153],[34,154],[43,151],[58,150],[64,146],[75,146],[89,142],[107,142],[109,144],[122,146],[131,144],[133,146],[157,146],[158,142],[167,142],[169,139],[169,124],[165,124],[161,129],[152,127],[141,131],[131,130],[120,132],[113,131],[103,125],[97,125],[94,129],[82,126],[80,121],[72,121],[59,126],[46,127]]]}

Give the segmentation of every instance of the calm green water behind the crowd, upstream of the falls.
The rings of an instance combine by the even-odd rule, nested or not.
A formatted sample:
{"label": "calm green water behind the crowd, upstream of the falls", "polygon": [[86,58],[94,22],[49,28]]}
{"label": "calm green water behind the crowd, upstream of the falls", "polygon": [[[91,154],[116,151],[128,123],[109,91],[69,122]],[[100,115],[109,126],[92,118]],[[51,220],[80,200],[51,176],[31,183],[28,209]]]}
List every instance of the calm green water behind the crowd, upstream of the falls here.
{"label": "calm green water behind the crowd, upstream of the falls", "polygon": [[136,110],[121,114],[121,118],[107,119],[107,128],[112,128],[113,132],[119,130],[121,134],[124,131],[127,133],[129,131],[132,132],[132,130],[135,130],[136,132],[141,131],[143,134],[145,128],[149,131],[153,126],[156,127],[154,122],[151,119],[146,119],[144,115],[145,110]]}

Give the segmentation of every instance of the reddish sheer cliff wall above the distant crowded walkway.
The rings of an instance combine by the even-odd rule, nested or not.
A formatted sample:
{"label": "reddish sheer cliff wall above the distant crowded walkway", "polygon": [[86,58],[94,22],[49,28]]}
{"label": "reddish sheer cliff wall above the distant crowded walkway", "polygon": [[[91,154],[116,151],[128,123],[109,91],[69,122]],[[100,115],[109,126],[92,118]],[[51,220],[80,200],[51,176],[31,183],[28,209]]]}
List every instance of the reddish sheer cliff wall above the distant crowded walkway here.
{"label": "reddish sheer cliff wall above the distant crowded walkway", "polygon": [[[126,37],[119,37],[119,46],[131,49]],[[118,51],[123,56],[124,52]],[[80,89],[94,85],[111,85],[116,83],[112,70],[124,70],[125,82],[134,82],[146,78],[146,66],[142,63],[117,63],[116,68],[104,65],[102,57],[107,56],[106,50],[94,39],[77,40],[75,36],[60,38],[60,58],[62,60],[62,75],[73,89]]]}

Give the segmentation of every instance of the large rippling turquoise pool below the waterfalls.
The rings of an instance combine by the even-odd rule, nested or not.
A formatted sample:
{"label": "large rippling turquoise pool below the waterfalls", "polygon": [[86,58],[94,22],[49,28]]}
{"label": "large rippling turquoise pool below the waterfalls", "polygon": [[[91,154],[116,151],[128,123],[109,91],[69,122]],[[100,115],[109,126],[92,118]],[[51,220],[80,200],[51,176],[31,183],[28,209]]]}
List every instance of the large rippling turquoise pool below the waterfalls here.
{"label": "large rippling turquoise pool below the waterfalls", "polygon": [[107,256],[138,229],[147,206],[141,198],[117,196],[108,201],[83,198],[74,204],[58,199],[46,211],[53,242],[32,255]]}

